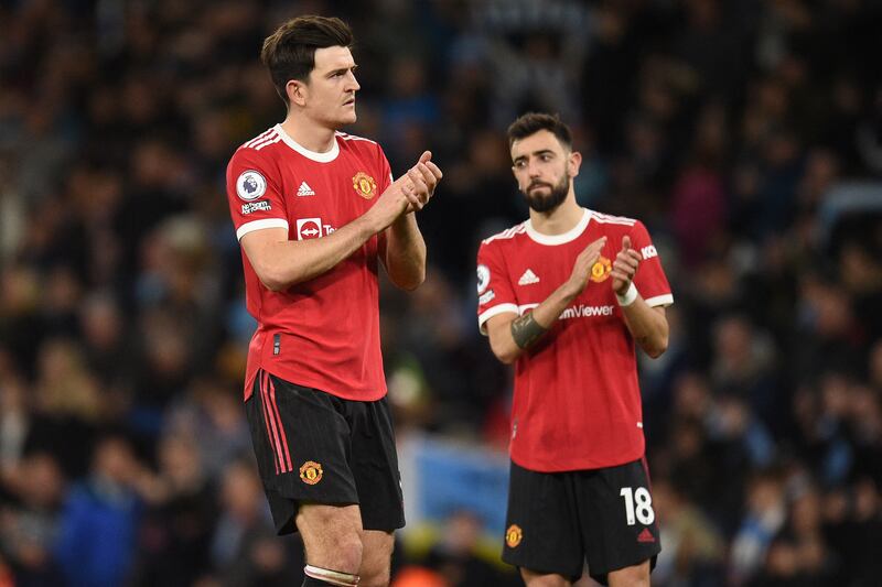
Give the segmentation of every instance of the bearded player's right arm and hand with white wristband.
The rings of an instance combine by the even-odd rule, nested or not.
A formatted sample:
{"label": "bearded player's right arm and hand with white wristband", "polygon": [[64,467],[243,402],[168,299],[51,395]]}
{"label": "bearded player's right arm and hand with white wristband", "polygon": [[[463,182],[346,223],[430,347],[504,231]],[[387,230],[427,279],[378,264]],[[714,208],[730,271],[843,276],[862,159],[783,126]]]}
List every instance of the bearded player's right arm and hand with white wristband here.
{"label": "bearded player's right arm and hand with white wristband", "polygon": [[631,238],[623,237],[622,250],[613,262],[612,286],[631,336],[644,352],[656,359],[668,348],[668,319],[664,307],[649,306],[634,286],[641,261],[641,253],[631,247]]}

